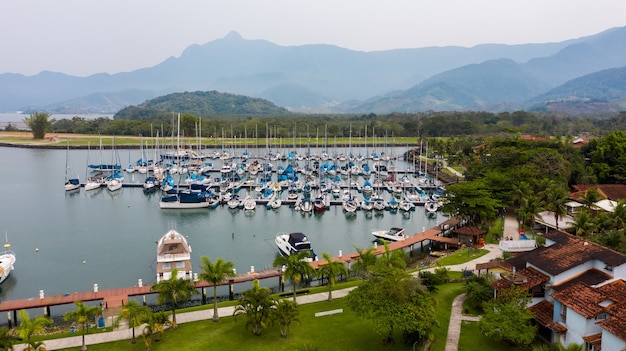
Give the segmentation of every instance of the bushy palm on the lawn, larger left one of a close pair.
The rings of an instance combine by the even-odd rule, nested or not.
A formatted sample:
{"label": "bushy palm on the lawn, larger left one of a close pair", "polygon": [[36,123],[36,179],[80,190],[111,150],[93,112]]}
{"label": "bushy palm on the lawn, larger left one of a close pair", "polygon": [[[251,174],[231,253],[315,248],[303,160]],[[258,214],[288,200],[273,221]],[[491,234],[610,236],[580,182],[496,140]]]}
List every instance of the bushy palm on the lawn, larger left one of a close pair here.
{"label": "bushy palm on the lawn, larger left one of a close pair", "polygon": [[269,288],[261,287],[255,280],[252,289],[241,293],[239,304],[235,306],[233,317],[246,316],[246,329],[254,335],[261,335],[263,329],[273,322],[275,301]]}

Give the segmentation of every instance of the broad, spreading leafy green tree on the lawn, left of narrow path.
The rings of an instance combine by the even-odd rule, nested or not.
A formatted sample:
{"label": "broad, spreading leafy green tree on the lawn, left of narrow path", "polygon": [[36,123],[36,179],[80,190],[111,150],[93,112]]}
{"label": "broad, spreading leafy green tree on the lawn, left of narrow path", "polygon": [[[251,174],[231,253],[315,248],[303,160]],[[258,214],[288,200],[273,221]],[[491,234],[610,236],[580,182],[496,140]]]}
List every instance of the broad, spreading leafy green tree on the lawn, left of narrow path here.
{"label": "broad, spreading leafy green tree on the lawn, left of narrow path", "polygon": [[348,294],[346,304],[358,317],[373,321],[374,330],[389,342],[396,328],[406,342],[424,342],[437,326],[434,299],[404,269],[376,265],[372,277]]}

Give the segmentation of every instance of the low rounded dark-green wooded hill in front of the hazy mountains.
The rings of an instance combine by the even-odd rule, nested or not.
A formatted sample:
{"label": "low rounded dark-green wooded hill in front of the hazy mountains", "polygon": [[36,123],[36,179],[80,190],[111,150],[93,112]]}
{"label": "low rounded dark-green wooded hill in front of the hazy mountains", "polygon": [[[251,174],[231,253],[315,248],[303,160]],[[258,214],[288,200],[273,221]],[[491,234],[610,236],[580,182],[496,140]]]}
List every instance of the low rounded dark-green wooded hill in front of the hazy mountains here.
{"label": "low rounded dark-green wooded hill in front of the hazy mountains", "polygon": [[264,99],[217,91],[195,91],[159,96],[138,106],[128,106],[116,113],[113,118],[144,119],[172,112],[205,117],[289,113],[286,109]]}

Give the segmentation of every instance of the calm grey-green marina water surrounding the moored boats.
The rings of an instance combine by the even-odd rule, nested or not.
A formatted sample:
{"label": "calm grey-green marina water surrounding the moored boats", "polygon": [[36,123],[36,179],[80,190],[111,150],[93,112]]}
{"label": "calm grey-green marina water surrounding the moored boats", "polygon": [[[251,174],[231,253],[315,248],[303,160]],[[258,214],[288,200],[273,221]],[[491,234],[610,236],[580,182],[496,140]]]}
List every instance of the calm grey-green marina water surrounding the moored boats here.
{"label": "calm grey-green marina water surrounding the moored boats", "polygon": [[[131,159],[139,158],[137,150],[132,153]],[[128,151],[119,154],[125,166]],[[99,162],[97,151],[69,152],[70,173],[81,181],[88,155],[91,163]],[[415,233],[444,220],[441,214],[427,218],[421,207],[410,216],[385,212],[367,218],[364,212],[346,217],[340,206],[322,215],[303,215],[287,206],[257,206],[251,215],[227,206],[161,210],[159,194],[147,196],[141,188],[67,194],[65,162],[65,150],[0,147],[0,233],[8,235],[17,256],[15,270],[0,286],[0,300],[37,297],[40,289],[46,296],[87,291],[94,283],[100,289],[133,286],[140,278],[153,283],[156,241],[170,228],[188,237],[194,266],[202,255],[221,257],[243,273],[250,266],[270,268],[279,232],[304,232],[319,256],[335,256],[339,250],[354,252],[354,245],[371,246],[375,229],[397,226]],[[404,169],[401,161],[398,168]],[[125,177],[143,181],[137,173]]]}

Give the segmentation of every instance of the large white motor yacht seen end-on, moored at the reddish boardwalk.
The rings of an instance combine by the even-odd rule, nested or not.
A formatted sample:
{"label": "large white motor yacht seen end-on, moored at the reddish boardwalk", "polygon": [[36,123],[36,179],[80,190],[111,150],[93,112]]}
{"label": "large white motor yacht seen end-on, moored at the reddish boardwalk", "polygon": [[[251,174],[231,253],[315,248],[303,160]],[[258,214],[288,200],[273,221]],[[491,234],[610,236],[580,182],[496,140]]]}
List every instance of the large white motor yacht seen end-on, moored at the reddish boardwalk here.
{"label": "large white motor yacht seen end-on, moored at the reddish boardwalk", "polygon": [[184,235],[171,229],[157,242],[157,283],[172,277],[178,270],[177,278],[193,279],[191,246]]}

